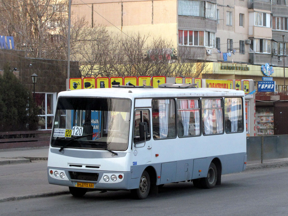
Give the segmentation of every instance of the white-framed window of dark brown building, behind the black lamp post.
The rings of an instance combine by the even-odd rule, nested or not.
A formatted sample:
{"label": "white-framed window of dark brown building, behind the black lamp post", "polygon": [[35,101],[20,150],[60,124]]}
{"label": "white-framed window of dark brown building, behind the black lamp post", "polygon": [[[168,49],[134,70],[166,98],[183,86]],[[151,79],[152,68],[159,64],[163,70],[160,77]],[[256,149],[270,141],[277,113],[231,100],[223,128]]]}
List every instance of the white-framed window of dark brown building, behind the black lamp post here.
{"label": "white-framed window of dark brown building, behind the black lamp post", "polygon": [[35,93],[35,103],[39,109],[39,130],[52,129],[55,102],[55,93]]}

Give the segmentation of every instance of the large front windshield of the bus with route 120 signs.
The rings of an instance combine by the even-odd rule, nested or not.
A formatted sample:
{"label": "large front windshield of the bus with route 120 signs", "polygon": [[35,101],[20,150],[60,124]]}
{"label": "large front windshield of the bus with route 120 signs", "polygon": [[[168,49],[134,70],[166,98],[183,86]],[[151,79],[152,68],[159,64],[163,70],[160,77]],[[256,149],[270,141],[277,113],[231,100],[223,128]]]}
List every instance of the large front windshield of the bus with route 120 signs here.
{"label": "large front windshield of the bus with route 120 signs", "polygon": [[128,99],[59,97],[51,146],[125,150],[130,109]]}

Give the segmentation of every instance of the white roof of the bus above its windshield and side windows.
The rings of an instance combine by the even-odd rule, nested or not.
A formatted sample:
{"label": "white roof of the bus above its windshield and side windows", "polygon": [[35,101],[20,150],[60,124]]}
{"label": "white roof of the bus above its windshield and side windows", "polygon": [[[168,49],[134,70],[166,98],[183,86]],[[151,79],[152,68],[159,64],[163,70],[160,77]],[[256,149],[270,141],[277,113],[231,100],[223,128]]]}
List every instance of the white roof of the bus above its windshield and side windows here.
{"label": "white roof of the bus above its windshield and side windows", "polygon": [[245,96],[244,91],[223,88],[96,88],[60,92],[60,96],[109,97],[109,98],[155,98],[155,97],[203,97]]}

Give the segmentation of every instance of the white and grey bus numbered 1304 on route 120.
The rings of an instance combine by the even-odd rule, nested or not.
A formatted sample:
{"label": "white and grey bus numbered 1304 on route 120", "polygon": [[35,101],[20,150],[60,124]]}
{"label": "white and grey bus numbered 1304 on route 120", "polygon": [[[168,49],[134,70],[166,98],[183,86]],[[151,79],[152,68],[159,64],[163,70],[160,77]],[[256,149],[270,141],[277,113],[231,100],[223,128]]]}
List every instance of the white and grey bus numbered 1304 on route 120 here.
{"label": "white and grey bus numbered 1304 on route 120", "polygon": [[192,84],[60,92],[48,181],[73,196],[131,190],[144,199],[166,183],[213,188],[245,170],[244,92]]}

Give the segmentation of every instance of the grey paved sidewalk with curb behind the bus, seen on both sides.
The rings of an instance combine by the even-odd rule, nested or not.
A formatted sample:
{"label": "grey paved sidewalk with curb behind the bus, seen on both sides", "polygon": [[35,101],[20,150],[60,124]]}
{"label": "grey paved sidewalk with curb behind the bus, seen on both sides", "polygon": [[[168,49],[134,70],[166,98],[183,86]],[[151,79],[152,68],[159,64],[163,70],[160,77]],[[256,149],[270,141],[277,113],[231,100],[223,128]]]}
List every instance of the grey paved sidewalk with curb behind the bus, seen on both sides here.
{"label": "grey paved sidewalk with curb behind the bus, seen on both sides", "polygon": [[[0,166],[3,192],[0,202],[69,194],[68,187],[48,183],[48,150],[48,147],[0,150],[0,165],[3,165]],[[288,166],[288,158],[264,160],[262,164],[248,161],[246,170],[283,166]]]}

